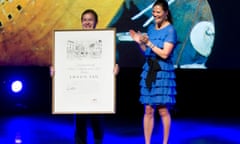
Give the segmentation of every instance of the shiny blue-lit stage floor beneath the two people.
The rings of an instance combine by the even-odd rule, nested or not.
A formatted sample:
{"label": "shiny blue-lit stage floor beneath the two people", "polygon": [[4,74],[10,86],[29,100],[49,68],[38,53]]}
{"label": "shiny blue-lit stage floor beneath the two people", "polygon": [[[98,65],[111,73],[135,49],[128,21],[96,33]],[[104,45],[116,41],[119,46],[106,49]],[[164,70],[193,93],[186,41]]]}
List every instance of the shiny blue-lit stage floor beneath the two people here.
{"label": "shiny blue-lit stage floor beneath the two people", "polygon": [[[104,116],[104,144],[144,144],[142,119]],[[1,115],[0,144],[74,144],[74,116],[51,114]],[[89,144],[93,144],[89,127]],[[161,144],[156,118],[152,144]],[[169,144],[239,144],[239,118],[173,117]]]}

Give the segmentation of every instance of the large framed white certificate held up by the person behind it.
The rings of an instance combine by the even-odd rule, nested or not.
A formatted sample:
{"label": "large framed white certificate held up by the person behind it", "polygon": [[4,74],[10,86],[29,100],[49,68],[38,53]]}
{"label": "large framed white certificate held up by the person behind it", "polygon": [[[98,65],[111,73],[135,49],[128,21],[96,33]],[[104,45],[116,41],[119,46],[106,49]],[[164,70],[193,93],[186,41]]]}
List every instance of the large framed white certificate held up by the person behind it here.
{"label": "large framed white certificate held up by the person behind it", "polygon": [[115,34],[54,30],[53,114],[115,113]]}

